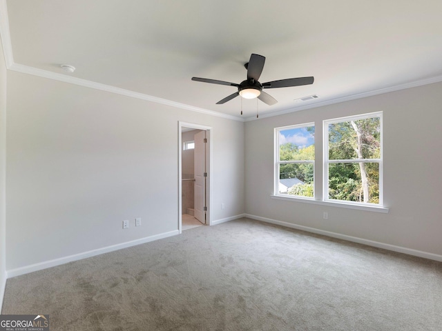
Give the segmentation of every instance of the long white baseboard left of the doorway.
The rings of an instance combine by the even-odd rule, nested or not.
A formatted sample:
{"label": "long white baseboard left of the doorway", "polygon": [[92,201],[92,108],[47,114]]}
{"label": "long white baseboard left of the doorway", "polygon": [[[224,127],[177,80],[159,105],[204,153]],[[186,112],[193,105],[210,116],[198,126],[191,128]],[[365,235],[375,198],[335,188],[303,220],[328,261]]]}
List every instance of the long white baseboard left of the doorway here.
{"label": "long white baseboard left of the doorway", "polygon": [[149,241],[155,241],[158,239],[172,237],[172,236],[175,236],[176,234],[179,234],[179,233],[180,232],[178,230],[173,230],[170,232],[155,234],[154,236],[151,236],[151,237],[145,237],[142,239],[127,241],[126,243],[118,243],[117,245],[111,245],[111,246],[107,246],[104,248],[98,248],[97,250],[89,250],[88,252],[82,252],[79,254],[69,255],[68,257],[61,257],[59,259],[53,259],[50,261],[44,261],[44,262],[40,262],[40,263],[26,265],[24,267],[17,268],[17,269],[6,270],[6,274],[7,274],[7,278],[17,277],[17,276],[20,276],[21,274],[28,274],[30,272],[35,272],[38,270],[43,270],[46,268],[55,267],[57,265],[61,265],[64,263],[78,261],[81,259],[86,259],[88,257],[95,257],[95,255],[113,252],[115,250],[121,250],[122,248],[128,248],[131,246],[140,245],[142,243],[148,243]]}

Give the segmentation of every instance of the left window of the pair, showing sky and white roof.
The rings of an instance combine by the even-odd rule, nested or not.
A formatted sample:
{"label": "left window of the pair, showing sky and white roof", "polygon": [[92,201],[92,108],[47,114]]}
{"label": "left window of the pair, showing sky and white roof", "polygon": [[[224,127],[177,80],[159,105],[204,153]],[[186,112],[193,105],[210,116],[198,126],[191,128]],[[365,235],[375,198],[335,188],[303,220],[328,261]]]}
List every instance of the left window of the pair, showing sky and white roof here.
{"label": "left window of the pair, showing sky and white roof", "polygon": [[275,192],[314,198],[314,123],[276,128]]}

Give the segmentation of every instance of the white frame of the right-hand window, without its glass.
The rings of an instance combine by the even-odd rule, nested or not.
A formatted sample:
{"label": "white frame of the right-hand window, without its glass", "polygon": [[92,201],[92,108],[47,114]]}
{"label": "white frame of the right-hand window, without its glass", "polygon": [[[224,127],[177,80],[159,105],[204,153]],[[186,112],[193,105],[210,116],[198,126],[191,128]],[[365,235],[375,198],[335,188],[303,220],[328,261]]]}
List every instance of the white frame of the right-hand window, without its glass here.
{"label": "white frame of the right-hand window, without its glass", "polygon": [[[371,119],[379,117],[381,130],[381,157],[379,159],[349,159],[349,160],[329,160],[329,124],[341,123],[347,121],[356,121],[359,119]],[[358,201],[345,201],[338,199],[329,199],[329,164],[331,163],[378,163],[379,165],[379,203],[364,203]],[[371,112],[349,117],[340,117],[336,119],[327,119],[323,121],[323,201],[332,203],[345,203],[349,205],[372,206],[383,208],[383,112]]]}

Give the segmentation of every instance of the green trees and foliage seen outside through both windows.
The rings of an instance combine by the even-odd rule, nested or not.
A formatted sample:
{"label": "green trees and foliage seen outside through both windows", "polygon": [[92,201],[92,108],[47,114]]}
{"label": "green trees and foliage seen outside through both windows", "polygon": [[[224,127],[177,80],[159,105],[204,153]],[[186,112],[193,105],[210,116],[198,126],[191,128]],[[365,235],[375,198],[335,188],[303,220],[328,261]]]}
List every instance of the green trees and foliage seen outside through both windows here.
{"label": "green trees and foliage seen outside through both windows", "polygon": [[[310,130],[309,130],[310,129]],[[314,134],[314,127],[307,128]],[[329,124],[329,159],[379,159],[381,157],[381,120],[379,117]],[[315,159],[314,145],[299,148],[294,143],[280,146],[280,161]],[[280,164],[280,179],[297,178],[289,194],[313,197],[314,166],[311,163]],[[365,196],[364,197],[364,192]],[[331,163],[329,198],[343,201],[379,202],[379,164]]]}

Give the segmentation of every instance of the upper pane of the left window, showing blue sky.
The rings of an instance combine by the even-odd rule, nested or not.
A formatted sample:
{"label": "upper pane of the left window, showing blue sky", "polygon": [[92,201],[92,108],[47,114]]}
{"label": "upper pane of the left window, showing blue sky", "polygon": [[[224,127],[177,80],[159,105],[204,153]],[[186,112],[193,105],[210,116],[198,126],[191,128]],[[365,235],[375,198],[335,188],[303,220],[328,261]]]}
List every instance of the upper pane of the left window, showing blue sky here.
{"label": "upper pane of the left window, showing blue sky", "polygon": [[292,128],[279,131],[280,161],[315,159],[315,127]]}

